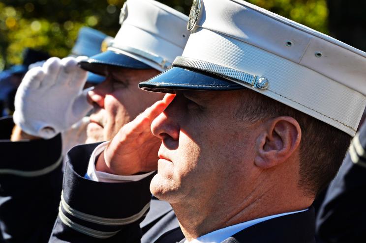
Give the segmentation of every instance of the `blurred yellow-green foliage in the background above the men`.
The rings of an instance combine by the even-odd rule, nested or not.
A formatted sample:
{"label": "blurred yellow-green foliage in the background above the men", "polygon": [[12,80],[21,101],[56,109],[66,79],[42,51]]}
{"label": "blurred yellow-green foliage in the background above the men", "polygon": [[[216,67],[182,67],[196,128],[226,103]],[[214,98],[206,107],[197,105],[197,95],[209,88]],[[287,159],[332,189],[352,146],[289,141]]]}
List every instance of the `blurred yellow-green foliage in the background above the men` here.
{"label": "blurred yellow-green foliage in the background above the men", "polygon": [[[192,0],[159,0],[189,14]],[[248,0],[327,33],[326,0]],[[22,62],[26,47],[66,56],[80,27],[114,36],[124,0],[0,0],[0,70]]]}

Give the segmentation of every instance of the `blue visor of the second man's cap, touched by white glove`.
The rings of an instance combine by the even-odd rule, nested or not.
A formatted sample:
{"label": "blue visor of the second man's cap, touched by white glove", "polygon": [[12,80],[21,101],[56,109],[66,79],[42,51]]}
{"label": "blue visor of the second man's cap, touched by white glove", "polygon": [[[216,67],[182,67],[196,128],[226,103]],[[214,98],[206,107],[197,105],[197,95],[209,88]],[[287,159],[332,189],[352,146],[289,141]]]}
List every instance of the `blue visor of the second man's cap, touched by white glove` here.
{"label": "blue visor of the second man's cap, touched by white glove", "polygon": [[130,56],[106,51],[104,53],[91,56],[87,60],[79,62],[81,68],[102,76],[107,76],[107,67],[116,66],[133,69],[151,69],[152,67],[138,61]]}

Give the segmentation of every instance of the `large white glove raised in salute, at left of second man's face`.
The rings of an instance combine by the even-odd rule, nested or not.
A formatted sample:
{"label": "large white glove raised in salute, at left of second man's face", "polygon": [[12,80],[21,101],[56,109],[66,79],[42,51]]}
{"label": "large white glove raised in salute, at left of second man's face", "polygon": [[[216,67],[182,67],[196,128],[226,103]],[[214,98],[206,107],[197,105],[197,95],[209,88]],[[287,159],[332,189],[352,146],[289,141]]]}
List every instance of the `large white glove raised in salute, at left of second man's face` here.
{"label": "large white glove raised in salute, at left of second man's face", "polygon": [[51,138],[83,118],[92,106],[82,90],[87,72],[78,61],[84,57],[48,59],[25,75],[15,95],[16,125],[34,136]]}

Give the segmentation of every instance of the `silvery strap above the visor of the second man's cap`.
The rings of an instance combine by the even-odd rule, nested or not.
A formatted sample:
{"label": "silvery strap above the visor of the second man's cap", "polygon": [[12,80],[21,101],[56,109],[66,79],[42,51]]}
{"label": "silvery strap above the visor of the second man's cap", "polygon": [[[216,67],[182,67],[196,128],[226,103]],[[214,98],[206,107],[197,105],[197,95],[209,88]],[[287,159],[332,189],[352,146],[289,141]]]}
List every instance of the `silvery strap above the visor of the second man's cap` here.
{"label": "silvery strap above the visor of the second man's cap", "polygon": [[158,64],[163,69],[168,69],[168,68],[172,67],[172,63],[168,62],[168,60],[165,59],[164,57],[151,53],[151,52],[148,52],[148,51],[145,51],[145,50],[136,49],[134,47],[118,45],[118,47],[111,46],[108,48],[108,50],[116,52],[116,53],[120,53],[120,54],[123,54],[123,53],[121,53],[121,51],[124,51],[124,52],[130,53],[130,54],[138,55],[140,57],[143,57],[149,61],[152,61],[152,62]]}

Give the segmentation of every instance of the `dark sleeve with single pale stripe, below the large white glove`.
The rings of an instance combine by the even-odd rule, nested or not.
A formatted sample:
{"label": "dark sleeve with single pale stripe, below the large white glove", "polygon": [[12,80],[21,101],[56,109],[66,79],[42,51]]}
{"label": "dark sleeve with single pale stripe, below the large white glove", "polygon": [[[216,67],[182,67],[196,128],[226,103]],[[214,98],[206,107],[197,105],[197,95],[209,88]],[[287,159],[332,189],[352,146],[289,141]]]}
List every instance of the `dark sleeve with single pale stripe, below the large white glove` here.
{"label": "dark sleeve with single pale stripe, below the large white glove", "polygon": [[61,135],[11,142],[4,135],[12,127],[11,118],[0,119],[1,235],[10,243],[47,242],[60,202]]}

